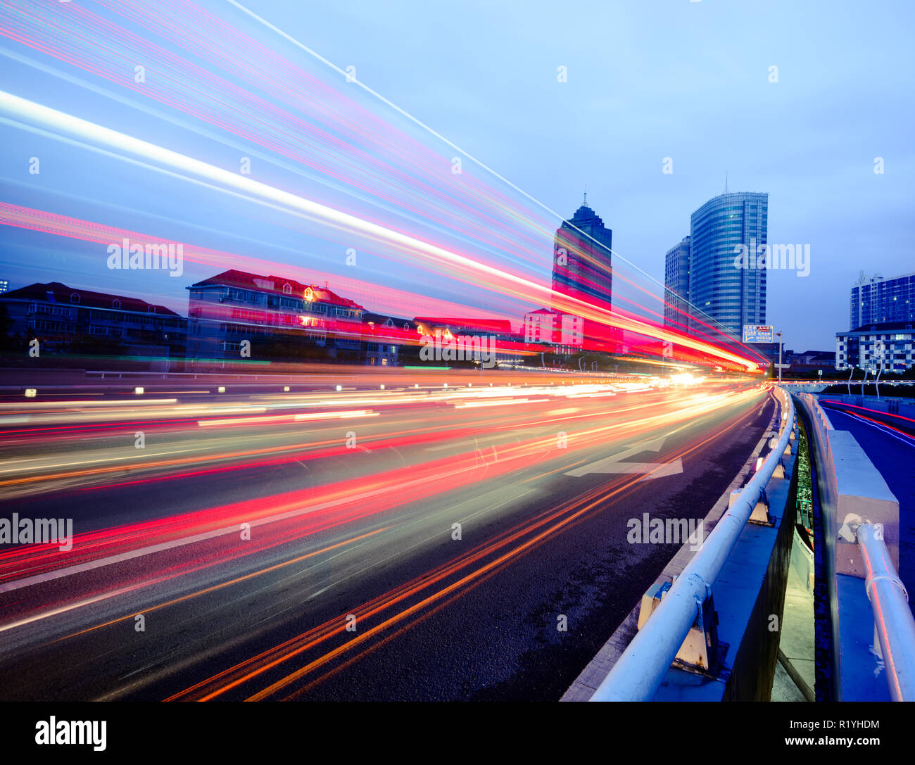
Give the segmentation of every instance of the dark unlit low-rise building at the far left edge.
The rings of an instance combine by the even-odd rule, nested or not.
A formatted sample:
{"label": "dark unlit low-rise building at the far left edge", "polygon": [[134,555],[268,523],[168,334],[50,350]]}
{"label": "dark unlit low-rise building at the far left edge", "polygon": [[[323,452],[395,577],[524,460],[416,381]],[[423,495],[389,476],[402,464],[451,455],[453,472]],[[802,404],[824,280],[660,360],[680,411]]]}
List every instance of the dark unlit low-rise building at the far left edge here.
{"label": "dark unlit low-rise building at the far left edge", "polygon": [[[137,297],[36,283],[0,295],[12,334],[49,352],[109,352],[148,358],[184,354],[187,319]],[[167,367],[167,362],[165,362]]]}

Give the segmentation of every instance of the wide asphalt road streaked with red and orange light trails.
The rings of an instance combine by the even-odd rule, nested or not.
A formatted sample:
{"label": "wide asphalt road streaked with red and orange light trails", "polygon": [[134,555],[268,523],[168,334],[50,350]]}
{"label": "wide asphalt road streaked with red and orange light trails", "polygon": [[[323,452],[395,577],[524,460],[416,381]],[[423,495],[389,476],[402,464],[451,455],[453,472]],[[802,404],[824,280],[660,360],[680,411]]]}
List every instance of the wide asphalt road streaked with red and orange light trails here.
{"label": "wide asphalt road streaked with red and orange light trails", "polygon": [[0,517],[76,535],[0,547],[5,700],[558,699],[679,546],[630,519],[704,516],[772,414],[724,382],[155,396],[0,402]]}

